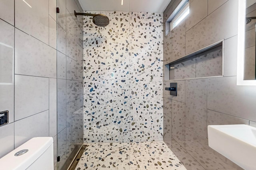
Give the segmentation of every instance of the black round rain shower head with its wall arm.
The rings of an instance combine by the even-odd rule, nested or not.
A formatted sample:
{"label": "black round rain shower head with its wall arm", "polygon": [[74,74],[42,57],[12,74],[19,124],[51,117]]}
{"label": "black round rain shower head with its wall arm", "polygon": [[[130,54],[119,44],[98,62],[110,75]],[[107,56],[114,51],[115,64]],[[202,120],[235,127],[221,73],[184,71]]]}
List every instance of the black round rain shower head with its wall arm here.
{"label": "black round rain shower head with its wall arm", "polygon": [[75,16],[92,16],[92,21],[95,25],[99,27],[106,27],[109,24],[109,19],[103,14],[88,14],[88,13],[79,13],[75,11]]}

